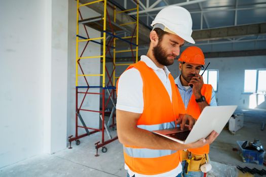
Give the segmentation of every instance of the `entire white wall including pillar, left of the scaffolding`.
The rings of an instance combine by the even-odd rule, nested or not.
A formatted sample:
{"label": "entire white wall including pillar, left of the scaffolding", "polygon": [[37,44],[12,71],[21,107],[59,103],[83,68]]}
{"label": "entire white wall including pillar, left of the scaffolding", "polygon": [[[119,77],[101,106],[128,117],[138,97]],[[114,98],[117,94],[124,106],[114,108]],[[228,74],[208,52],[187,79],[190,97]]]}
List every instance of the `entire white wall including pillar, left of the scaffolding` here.
{"label": "entire white wall including pillar, left of the scaffolding", "polygon": [[68,2],[0,2],[0,168],[66,148]]}

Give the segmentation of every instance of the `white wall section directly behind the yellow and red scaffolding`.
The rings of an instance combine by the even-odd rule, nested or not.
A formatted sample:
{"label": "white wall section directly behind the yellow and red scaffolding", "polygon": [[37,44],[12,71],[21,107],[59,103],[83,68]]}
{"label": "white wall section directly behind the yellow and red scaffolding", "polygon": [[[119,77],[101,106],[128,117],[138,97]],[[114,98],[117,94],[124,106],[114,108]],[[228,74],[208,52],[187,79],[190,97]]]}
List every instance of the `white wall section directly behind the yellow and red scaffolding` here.
{"label": "white wall section directly behind the yellow and red scaffolding", "polygon": [[[77,2],[69,0],[68,8],[68,84],[67,84],[67,136],[75,136],[75,36],[76,36],[76,21],[77,21]],[[83,19],[99,16],[95,11],[81,7],[81,14]],[[80,35],[87,37],[85,28],[80,25]],[[101,33],[92,28],[87,27],[90,38],[100,37]],[[99,41],[99,40],[98,40]],[[82,53],[86,42],[79,43],[79,54]],[[93,42],[89,42],[83,57],[99,56],[101,53],[101,46]],[[85,74],[100,74],[100,59],[82,59],[81,65]],[[82,74],[79,70],[79,74]],[[88,82],[91,86],[100,86],[99,76],[87,76]],[[86,82],[83,77],[79,77],[79,85],[85,86]],[[86,89],[80,89],[85,92]],[[99,89],[90,89],[89,92],[99,93]],[[79,94],[79,105],[83,99],[83,94]],[[82,109],[90,109],[99,111],[100,109],[100,96],[99,95],[87,95],[84,101]],[[81,115],[88,127],[99,128],[99,113],[81,111]],[[79,125],[82,125],[79,121]],[[79,135],[85,134],[86,131],[83,128],[79,128]],[[82,139],[81,139],[82,141]]]}

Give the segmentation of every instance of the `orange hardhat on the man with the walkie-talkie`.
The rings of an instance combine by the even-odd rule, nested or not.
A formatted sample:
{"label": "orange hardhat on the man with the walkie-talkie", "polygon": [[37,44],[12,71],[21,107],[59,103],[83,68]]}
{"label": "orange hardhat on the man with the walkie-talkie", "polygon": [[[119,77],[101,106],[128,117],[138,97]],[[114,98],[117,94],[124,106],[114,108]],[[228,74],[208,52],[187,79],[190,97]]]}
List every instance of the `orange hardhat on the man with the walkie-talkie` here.
{"label": "orange hardhat on the man with the walkie-talkie", "polygon": [[186,48],[180,55],[178,61],[204,65],[205,57],[202,50],[196,46]]}

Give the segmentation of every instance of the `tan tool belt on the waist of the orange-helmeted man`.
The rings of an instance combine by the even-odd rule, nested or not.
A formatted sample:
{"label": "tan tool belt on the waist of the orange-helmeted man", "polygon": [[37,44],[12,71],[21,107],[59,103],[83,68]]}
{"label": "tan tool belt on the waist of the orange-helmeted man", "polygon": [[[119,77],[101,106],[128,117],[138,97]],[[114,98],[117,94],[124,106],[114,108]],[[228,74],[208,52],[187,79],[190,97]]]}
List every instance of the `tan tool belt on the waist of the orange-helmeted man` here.
{"label": "tan tool belt on the waist of the orange-helmeted man", "polygon": [[184,171],[201,171],[200,166],[207,163],[206,154],[196,155],[189,151],[183,151],[182,161],[186,160]]}

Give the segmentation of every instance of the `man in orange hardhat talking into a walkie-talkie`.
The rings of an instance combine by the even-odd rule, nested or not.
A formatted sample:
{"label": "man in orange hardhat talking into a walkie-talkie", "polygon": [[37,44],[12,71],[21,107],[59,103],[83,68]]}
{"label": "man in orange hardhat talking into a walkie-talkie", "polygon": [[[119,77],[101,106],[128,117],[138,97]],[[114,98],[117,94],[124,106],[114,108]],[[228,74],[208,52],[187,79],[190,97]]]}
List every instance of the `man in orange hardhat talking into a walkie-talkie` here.
{"label": "man in orange hardhat talking into a walkie-talkie", "polygon": [[[210,84],[203,83],[200,71],[204,68],[205,58],[198,47],[188,47],[180,55],[178,61],[181,74],[175,79],[179,113],[199,118],[206,106],[217,106],[215,92]],[[183,151],[183,176],[203,176],[200,166],[207,162],[209,144]],[[189,163],[188,163],[189,162]]]}

